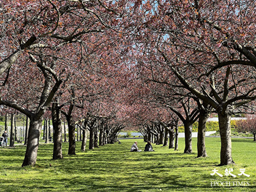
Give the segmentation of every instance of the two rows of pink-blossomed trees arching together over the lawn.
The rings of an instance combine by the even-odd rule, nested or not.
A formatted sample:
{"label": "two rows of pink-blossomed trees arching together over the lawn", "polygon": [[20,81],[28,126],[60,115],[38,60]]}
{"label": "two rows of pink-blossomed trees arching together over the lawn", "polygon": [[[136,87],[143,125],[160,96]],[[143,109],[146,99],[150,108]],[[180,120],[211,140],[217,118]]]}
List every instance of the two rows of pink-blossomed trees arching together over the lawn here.
{"label": "two rows of pink-blossomed trees arching together over the lawn", "polygon": [[157,143],[165,130],[172,145],[180,119],[184,153],[192,152],[198,121],[198,157],[206,157],[211,113],[219,119],[220,165],[234,163],[230,117],[252,112],[256,99],[253,2],[7,0],[0,6],[0,105],[30,119],[23,166],[36,162],[45,117],[54,127],[54,159],[62,158],[61,119],[69,129],[68,154],[75,154],[78,119],[90,130],[90,148],[98,132],[100,142],[112,143],[119,129],[135,126]]}

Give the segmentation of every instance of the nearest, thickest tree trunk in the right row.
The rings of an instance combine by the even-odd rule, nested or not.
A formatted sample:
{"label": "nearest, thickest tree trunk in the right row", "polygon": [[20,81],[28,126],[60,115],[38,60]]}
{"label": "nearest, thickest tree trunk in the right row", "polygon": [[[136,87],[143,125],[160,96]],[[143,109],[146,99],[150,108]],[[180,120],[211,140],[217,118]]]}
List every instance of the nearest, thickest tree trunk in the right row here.
{"label": "nearest, thickest tree trunk in the right row", "polygon": [[218,113],[218,120],[221,135],[221,163],[219,166],[235,164],[231,154],[231,116],[227,113]]}

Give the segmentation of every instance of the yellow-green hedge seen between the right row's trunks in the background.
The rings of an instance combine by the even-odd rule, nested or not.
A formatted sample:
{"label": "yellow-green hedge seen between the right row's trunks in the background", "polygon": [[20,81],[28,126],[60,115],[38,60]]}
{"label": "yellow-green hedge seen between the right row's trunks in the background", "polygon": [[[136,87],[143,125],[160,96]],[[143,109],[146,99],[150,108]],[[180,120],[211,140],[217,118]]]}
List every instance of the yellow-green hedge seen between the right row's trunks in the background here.
{"label": "yellow-green hedge seen between the right row's trunks in the background", "polygon": [[[235,128],[236,120],[231,120],[231,128]],[[218,131],[218,122],[217,121],[208,121],[206,123],[206,131]],[[179,127],[179,132],[184,133],[184,126]],[[192,132],[198,132],[198,122],[195,122],[192,127]]]}

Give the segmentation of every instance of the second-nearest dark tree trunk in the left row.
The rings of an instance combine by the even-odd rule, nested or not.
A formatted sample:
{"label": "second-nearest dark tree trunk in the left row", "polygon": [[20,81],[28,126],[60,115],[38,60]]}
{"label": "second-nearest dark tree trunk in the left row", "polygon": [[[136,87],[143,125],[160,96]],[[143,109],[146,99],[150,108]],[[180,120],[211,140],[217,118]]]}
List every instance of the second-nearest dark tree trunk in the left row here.
{"label": "second-nearest dark tree trunk in the left row", "polygon": [[52,103],[52,126],[53,126],[53,154],[52,159],[63,159],[61,150],[61,111],[56,105]]}

